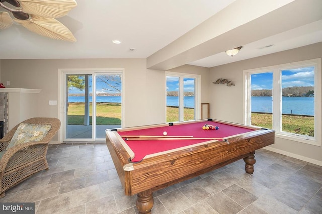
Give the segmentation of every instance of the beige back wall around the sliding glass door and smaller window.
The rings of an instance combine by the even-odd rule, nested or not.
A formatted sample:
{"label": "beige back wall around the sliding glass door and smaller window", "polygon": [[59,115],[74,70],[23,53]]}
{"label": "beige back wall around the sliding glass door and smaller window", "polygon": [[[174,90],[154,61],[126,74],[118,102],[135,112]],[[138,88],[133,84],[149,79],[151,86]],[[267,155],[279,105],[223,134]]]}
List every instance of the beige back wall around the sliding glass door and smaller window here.
{"label": "beige back wall around the sliding glass door and smaller window", "polygon": [[[59,117],[58,69],[124,69],[123,126],[140,126],[165,122],[165,72],[146,69],[146,59],[56,59],[1,60],[1,79],[11,88],[42,89],[39,94],[39,116]],[[176,72],[208,75],[208,68],[183,66]],[[203,79],[203,83],[206,83]],[[203,84],[203,90],[207,86]],[[207,94],[201,91],[203,99]],[[202,101],[204,101],[202,99]],[[57,100],[57,105],[49,105]],[[61,108],[62,109],[62,108]],[[61,132],[61,130],[60,130]],[[58,138],[57,138],[58,139]],[[55,139],[55,140],[57,140]]]}

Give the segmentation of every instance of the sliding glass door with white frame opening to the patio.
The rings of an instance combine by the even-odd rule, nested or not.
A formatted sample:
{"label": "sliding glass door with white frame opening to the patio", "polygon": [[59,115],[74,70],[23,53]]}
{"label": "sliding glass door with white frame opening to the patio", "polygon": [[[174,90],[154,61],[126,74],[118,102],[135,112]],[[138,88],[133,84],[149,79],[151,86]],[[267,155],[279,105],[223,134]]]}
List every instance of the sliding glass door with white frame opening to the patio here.
{"label": "sliding glass door with white frame opening to the patio", "polygon": [[65,73],[64,141],[105,140],[122,125],[122,72]]}

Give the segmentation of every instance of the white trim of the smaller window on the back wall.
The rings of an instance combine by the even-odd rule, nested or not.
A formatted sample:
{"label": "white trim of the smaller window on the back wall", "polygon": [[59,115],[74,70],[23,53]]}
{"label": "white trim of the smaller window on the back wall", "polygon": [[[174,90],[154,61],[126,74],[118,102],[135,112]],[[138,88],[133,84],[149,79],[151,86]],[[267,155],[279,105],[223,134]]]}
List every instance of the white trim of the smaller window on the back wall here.
{"label": "white trim of the smaller window on the back wall", "polygon": [[[199,74],[187,74],[178,72],[165,72],[165,122],[167,121],[167,76],[179,77],[179,94],[183,93],[183,85],[180,85],[180,79],[182,78],[194,78],[195,79],[195,120],[201,118],[201,75]],[[179,96],[179,108],[183,106],[183,97]],[[179,111],[179,122],[183,120],[183,111]]]}

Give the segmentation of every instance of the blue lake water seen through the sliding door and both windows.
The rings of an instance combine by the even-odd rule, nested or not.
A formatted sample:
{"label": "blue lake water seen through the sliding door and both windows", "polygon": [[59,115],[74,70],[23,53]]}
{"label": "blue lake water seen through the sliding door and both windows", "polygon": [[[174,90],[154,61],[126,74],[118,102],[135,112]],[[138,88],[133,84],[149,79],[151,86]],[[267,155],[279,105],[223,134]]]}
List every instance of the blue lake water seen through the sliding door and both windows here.
{"label": "blue lake water seen through the sliding door and both windows", "polygon": [[[84,96],[69,96],[69,102],[84,102]],[[92,97],[90,97],[90,102]],[[97,96],[97,102],[121,103],[120,96]],[[253,96],[252,112],[272,113],[272,97],[270,96]],[[185,107],[194,106],[194,97],[184,97]],[[314,97],[282,97],[282,113],[297,115],[314,115]],[[178,106],[177,96],[167,96],[167,106]]]}

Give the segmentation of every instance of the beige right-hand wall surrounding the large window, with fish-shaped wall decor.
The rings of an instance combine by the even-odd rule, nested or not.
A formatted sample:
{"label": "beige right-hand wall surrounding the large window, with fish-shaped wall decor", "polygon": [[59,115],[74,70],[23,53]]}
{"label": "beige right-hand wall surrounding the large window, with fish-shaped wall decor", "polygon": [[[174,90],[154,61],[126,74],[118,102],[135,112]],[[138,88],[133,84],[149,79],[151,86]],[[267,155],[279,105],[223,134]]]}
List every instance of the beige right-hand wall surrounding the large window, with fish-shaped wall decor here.
{"label": "beige right-hand wall surrounding the large window, with fish-shaped wall decor", "polygon": [[[209,99],[212,118],[243,123],[243,70],[261,68],[322,57],[322,43],[316,43],[253,59],[221,65],[210,69]],[[215,85],[218,78],[233,80],[236,86]],[[316,93],[317,94],[317,93]],[[319,92],[321,96],[321,91]],[[322,130],[318,130],[321,132]],[[322,165],[322,147],[275,138],[269,149]]]}

